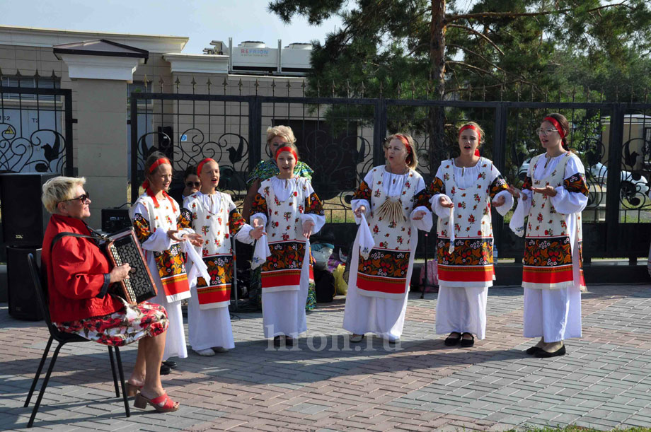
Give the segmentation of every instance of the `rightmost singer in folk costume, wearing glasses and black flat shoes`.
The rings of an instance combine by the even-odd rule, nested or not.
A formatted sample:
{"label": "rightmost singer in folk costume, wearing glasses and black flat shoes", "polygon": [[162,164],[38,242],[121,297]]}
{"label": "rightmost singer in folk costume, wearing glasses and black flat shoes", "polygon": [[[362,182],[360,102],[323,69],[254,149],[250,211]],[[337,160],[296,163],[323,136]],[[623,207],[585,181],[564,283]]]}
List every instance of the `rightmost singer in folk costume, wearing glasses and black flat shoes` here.
{"label": "rightmost singer in folk costume, wearing glasses and black flat shoes", "polygon": [[[550,114],[536,131],[546,152],[531,159],[510,227],[524,234],[524,337],[541,337],[526,350],[563,356],[563,340],[581,337],[581,211],[588,200],[585,169],[569,151],[568,119]],[[525,218],[527,218],[525,226]]]}

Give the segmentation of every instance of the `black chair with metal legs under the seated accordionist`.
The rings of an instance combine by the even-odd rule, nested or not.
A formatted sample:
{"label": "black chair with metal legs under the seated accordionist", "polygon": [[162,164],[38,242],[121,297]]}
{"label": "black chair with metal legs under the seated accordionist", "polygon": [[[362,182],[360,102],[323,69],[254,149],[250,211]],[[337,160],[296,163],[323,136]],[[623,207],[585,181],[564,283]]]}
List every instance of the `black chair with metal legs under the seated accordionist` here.
{"label": "black chair with metal legs under the seated accordionist", "polygon": [[[45,346],[45,351],[43,351],[43,356],[41,358],[40,364],[38,365],[38,370],[36,370],[36,375],[34,377],[34,380],[32,381],[32,387],[30,388],[30,392],[27,395],[27,400],[25,400],[25,405],[24,405],[25,407],[29,406],[30,399],[32,399],[32,395],[36,388],[36,383],[38,382],[40,373],[43,369],[43,365],[45,364],[45,359],[47,358],[47,354],[50,354],[50,347],[52,346],[52,341],[56,340],[57,342],[59,342],[57,349],[54,350],[54,355],[52,356],[52,360],[50,360],[50,366],[47,368],[47,373],[45,374],[45,378],[43,379],[43,384],[41,386],[40,392],[38,393],[36,404],[34,405],[34,409],[32,410],[32,416],[30,416],[30,421],[27,424],[27,427],[30,428],[34,424],[34,419],[36,417],[36,413],[38,412],[38,407],[40,406],[41,399],[43,398],[43,394],[45,393],[45,387],[47,387],[47,381],[50,380],[52,369],[54,369],[54,362],[57,361],[57,356],[59,356],[59,350],[61,349],[61,347],[71,342],[89,342],[89,340],[81,336],[78,336],[76,334],[59,332],[59,330],[56,327],[54,327],[54,325],[52,325],[52,320],[50,319],[50,308],[48,308],[47,305],[47,296],[45,291],[43,291],[42,288],[43,286],[46,285],[42,283],[43,282],[42,275],[40,269],[38,268],[38,264],[36,263],[36,259],[34,258],[34,255],[29,254],[27,256],[27,261],[29,264],[32,280],[34,282],[34,288],[36,291],[36,301],[38,302],[42,316],[45,319],[45,323],[47,324],[47,329],[50,330],[50,340],[47,341],[47,346]],[[122,399],[124,399],[125,401],[125,411],[127,411],[127,417],[129,417],[131,416],[131,412],[129,411],[129,402],[127,401],[127,390],[125,389],[125,374],[122,372],[122,358],[120,358],[120,349],[118,349],[117,346],[113,346],[113,347],[108,346],[108,357],[110,358],[111,371],[113,372],[113,385],[115,386],[115,396],[120,397],[120,389],[117,387],[117,375],[115,375],[115,361],[113,360],[113,348],[115,348],[117,370],[120,373],[120,383],[122,384]]]}

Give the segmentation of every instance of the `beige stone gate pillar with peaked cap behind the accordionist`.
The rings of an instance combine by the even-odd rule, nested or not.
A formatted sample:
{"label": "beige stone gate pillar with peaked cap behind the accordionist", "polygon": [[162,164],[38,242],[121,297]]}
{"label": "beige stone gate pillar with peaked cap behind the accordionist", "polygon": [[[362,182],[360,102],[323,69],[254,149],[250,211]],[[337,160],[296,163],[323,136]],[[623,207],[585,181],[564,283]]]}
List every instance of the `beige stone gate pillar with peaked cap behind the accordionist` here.
{"label": "beige stone gate pillar with peaked cap behind the accordionist", "polygon": [[127,198],[127,83],[148,58],[143,49],[107,40],[55,45],[68,66],[76,103],[76,168],[91,194],[88,225],[101,228],[102,209]]}

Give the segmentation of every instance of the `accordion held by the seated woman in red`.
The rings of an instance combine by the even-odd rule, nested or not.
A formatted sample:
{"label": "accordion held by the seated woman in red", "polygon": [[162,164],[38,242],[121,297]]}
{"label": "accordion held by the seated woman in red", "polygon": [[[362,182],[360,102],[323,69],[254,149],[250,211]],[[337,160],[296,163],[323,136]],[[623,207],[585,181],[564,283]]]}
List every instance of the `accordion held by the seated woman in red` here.
{"label": "accordion held by the seated woman in red", "polygon": [[127,279],[118,282],[118,294],[129,304],[142,303],[156,296],[156,285],[151,278],[140,243],[133,228],[105,236],[103,248],[111,264],[119,266],[129,263],[131,272]]}

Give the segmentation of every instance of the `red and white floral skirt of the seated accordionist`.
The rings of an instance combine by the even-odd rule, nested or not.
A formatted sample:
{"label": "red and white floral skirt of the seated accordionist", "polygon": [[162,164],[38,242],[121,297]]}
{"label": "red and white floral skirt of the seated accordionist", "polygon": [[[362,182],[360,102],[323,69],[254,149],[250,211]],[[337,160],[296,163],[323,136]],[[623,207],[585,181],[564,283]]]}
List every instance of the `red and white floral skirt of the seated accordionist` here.
{"label": "red and white floral skirt of the seated accordionist", "polygon": [[167,329],[167,312],[161,305],[143,302],[117,312],[83,320],[53,322],[60,332],[74,333],[98,344],[125,346],[142,337],[156,337]]}

